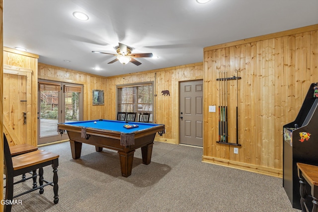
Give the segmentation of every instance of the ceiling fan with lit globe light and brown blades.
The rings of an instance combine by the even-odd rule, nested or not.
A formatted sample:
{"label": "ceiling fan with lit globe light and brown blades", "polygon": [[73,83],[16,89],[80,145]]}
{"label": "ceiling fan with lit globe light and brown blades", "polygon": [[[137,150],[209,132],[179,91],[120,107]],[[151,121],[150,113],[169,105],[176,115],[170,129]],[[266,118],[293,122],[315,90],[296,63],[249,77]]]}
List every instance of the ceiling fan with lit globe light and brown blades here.
{"label": "ceiling fan with lit globe light and brown blades", "polygon": [[92,53],[101,53],[101,54],[107,54],[107,55],[114,55],[117,56],[115,60],[112,60],[108,64],[115,63],[116,61],[119,61],[122,64],[128,64],[129,62],[135,64],[136,66],[141,65],[139,61],[136,61],[134,58],[151,58],[153,57],[153,53],[139,53],[139,54],[132,54],[131,48],[127,47],[127,45],[118,43],[119,46],[117,48],[117,54],[111,54],[111,53],[105,53],[105,52],[97,52],[92,51]]}

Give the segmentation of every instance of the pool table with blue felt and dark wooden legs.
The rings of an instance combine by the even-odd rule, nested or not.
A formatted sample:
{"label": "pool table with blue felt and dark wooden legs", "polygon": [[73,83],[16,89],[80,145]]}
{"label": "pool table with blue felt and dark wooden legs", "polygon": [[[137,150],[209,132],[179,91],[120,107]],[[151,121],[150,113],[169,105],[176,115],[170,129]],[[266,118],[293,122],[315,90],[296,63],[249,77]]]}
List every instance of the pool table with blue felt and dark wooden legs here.
{"label": "pool table with blue felt and dark wooden legs", "polygon": [[[124,127],[127,125],[133,127],[127,129]],[[156,134],[162,136],[165,132],[162,124],[103,119],[61,123],[58,131],[61,134],[67,131],[73,159],[80,157],[82,143],[95,145],[96,151],[102,151],[103,147],[117,150],[124,177],[131,175],[135,149],[141,148],[143,163],[148,165]]]}

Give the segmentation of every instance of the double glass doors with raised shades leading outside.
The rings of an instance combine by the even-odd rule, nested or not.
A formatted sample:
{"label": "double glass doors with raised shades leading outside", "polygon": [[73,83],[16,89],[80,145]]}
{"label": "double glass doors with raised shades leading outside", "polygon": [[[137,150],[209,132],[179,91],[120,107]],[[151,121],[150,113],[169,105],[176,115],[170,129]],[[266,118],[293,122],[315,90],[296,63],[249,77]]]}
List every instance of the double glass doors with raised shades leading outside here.
{"label": "double glass doors with raised shades leading outside", "polygon": [[58,123],[81,121],[83,86],[39,79],[38,144],[68,139]]}

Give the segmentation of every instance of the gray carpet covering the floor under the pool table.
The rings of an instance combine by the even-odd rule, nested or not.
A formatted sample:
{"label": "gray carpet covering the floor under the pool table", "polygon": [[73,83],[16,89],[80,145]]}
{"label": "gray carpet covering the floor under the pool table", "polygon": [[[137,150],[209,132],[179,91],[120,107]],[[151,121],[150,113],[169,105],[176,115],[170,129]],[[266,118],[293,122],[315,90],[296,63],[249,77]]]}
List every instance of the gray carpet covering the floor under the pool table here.
{"label": "gray carpet covering the floor under the pool table", "polygon": [[[20,196],[13,212],[300,212],[293,209],[282,179],[201,162],[202,148],[155,142],[152,162],[134,157],[132,175],[122,177],[116,151],[83,144],[81,158],[69,142],[40,147],[60,154],[59,198],[53,187]],[[44,168],[52,179],[52,167]],[[18,176],[17,178],[20,178]],[[15,194],[31,181],[15,185]]]}

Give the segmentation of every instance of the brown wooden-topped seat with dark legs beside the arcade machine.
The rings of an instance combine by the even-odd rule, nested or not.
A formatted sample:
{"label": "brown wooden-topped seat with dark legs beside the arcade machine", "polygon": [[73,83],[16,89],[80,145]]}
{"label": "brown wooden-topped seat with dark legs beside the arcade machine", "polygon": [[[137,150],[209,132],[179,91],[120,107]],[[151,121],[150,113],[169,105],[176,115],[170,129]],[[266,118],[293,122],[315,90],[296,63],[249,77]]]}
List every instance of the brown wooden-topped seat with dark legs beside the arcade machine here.
{"label": "brown wooden-topped seat with dark legs beside the arcade machine", "polygon": [[299,192],[301,196],[300,203],[302,206],[302,212],[309,212],[306,197],[310,196],[310,194],[306,191],[306,183],[311,186],[311,196],[314,199],[312,212],[318,212],[318,166],[297,163],[297,170],[300,183]]}

